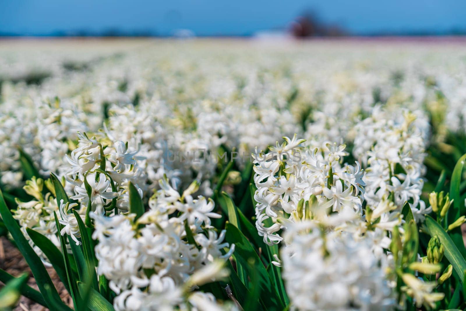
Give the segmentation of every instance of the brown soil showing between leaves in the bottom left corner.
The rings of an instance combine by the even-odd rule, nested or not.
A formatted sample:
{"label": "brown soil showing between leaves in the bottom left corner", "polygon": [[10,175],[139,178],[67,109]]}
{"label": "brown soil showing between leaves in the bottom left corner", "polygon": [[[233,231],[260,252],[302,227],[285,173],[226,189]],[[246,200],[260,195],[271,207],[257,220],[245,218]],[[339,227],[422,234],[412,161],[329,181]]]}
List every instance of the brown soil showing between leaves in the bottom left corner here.
{"label": "brown soil showing between leaves in the bottom left corner", "polygon": [[[19,276],[23,272],[28,272],[29,280],[27,281],[27,284],[36,290],[38,289],[34,280],[34,276],[32,275],[26,260],[21,255],[20,251],[16,249],[13,244],[9,242],[4,236],[0,237],[0,269],[7,271],[13,276]],[[55,270],[53,268],[47,268],[47,271],[52,278],[52,281],[54,282],[55,288],[58,290],[60,297],[62,297],[63,302],[73,308],[73,301],[71,300],[68,291],[63,286],[63,283],[58,278]],[[0,282],[0,284],[0,287],[2,287],[3,283]],[[41,306],[40,304],[36,304],[34,301],[21,296],[20,301],[14,310],[45,311],[48,310],[48,308]]]}

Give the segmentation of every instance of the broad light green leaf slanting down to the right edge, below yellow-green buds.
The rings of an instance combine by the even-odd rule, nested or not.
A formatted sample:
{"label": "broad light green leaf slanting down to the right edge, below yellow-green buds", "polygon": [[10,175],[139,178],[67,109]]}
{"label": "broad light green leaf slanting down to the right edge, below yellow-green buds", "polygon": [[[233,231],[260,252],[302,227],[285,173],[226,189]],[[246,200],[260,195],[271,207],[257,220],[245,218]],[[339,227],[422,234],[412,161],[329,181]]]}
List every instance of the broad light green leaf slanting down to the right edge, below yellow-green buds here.
{"label": "broad light green leaf slanting down to the right edge, below yellow-green buds", "polygon": [[466,261],[461,253],[459,252],[456,245],[453,243],[450,236],[445,230],[435,221],[431,216],[425,216],[425,225],[429,229],[431,236],[437,235],[440,239],[440,243],[445,248],[445,257],[452,264],[453,269],[458,274],[461,283],[464,282],[464,271],[466,270]]}

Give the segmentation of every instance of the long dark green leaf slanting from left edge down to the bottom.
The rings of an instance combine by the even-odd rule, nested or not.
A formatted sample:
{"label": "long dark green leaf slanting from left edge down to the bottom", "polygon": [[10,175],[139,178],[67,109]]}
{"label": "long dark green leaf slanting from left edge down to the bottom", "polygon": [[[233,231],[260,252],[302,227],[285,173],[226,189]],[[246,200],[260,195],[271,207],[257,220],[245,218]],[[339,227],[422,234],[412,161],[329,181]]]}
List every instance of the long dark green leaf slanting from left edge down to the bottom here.
{"label": "long dark green leaf slanting from left edge down to the bottom", "polygon": [[[49,309],[51,310],[71,310],[67,305],[63,304],[60,295],[58,295],[57,290],[48,275],[47,270],[45,269],[44,265],[41,262],[41,259],[37,254],[34,252],[34,249],[29,245],[24,235],[21,233],[20,226],[14,220],[13,215],[10,213],[5,200],[3,200],[3,194],[0,191],[0,215],[7,227],[8,231],[13,237],[14,242],[16,243],[18,249],[21,251],[21,254],[26,259],[29,268],[31,268],[32,274],[36,280],[40,280],[37,282],[37,286],[41,291],[42,295],[44,296],[45,301]],[[45,285],[48,285],[48,289],[46,289]],[[46,292],[47,290],[47,292]],[[47,293],[47,297],[46,297]]]}

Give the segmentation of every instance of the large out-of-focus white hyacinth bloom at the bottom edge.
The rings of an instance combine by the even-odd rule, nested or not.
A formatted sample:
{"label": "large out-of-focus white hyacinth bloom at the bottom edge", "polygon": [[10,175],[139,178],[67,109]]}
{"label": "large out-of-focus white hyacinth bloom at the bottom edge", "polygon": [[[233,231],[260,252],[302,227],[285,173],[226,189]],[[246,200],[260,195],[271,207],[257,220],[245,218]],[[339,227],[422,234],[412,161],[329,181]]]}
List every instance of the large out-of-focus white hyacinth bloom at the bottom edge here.
{"label": "large out-of-focus white hyacinth bloom at the bottom edge", "polygon": [[312,222],[290,225],[285,239],[290,244],[281,249],[282,275],[295,308],[391,309],[384,263],[372,253],[370,241],[325,234]]}

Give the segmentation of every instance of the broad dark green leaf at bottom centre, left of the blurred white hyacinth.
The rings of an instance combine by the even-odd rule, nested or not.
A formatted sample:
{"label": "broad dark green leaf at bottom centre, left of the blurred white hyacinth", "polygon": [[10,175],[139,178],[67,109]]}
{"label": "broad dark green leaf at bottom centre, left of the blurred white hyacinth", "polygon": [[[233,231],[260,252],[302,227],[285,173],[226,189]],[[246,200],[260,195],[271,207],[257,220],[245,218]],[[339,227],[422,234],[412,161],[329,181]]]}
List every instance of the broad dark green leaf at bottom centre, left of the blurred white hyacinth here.
{"label": "broad dark green leaf at bottom centre, left of the blurred white hyacinth", "polygon": [[262,294],[267,293],[267,299],[264,300],[267,309],[283,309],[285,305],[272,286],[267,270],[254,251],[253,246],[241,231],[230,223],[226,224],[226,241],[235,244],[235,259],[247,271],[248,275],[252,275],[257,271],[258,282],[254,286],[259,286]]}

